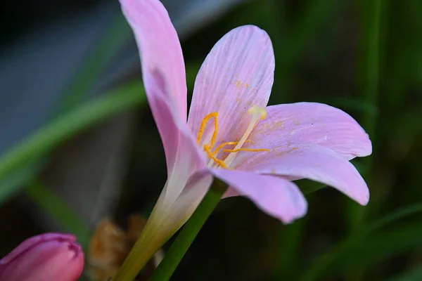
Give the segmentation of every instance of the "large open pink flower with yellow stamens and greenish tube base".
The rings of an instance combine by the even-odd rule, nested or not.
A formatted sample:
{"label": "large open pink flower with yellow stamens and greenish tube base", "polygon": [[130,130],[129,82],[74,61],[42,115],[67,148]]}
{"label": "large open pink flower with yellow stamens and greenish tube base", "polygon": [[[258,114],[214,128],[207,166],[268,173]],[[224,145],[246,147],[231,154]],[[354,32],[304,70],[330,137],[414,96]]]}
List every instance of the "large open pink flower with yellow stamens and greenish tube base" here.
{"label": "large open pink flower with yellow stamens and greenish tube base", "polygon": [[[369,137],[342,110],[320,103],[267,107],[274,51],[252,25],[224,35],[196,77],[186,122],[186,76],[177,33],[158,0],[120,0],[142,58],[143,82],[167,160],[167,183],[141,237],[158,249],[191,216],[216,177],[290,223],[307,212],[294,179],[330,185],[359,204],[369,190],[349,160]],[[151,254],[151,253],[150,253]]]}

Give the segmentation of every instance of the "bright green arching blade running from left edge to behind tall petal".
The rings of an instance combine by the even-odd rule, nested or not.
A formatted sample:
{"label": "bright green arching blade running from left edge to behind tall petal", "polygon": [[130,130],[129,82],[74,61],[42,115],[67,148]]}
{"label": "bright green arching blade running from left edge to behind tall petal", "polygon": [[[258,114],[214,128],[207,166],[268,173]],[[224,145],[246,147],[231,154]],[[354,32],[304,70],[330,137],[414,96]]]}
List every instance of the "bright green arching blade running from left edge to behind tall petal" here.
{"label": "bright green arching blade running from left edge to behind tall petal", "polygon": [[[196,64],[186,65],[186,73],[192,76],[198,68]],[[188,79],[189,88],[193,86],[193,82],[194,79]],[[61,142],[90,126],[145,102],[146,96],[142,82],[132,81],[57,117],[22,143],[18,143],[11,150],[4,152],[3,155],[0,155],[0,203],[7,200],[17,188],[23,186],[37,174],[39,169],[26,167],[29,162],[44,157]],[[25,176],[19,176],[17,169],[25,171],[23,173]],[[16,173],[15,176],[12,175],[13,173]],[[13,178],[20,178],[20,181],[12,181]]]}

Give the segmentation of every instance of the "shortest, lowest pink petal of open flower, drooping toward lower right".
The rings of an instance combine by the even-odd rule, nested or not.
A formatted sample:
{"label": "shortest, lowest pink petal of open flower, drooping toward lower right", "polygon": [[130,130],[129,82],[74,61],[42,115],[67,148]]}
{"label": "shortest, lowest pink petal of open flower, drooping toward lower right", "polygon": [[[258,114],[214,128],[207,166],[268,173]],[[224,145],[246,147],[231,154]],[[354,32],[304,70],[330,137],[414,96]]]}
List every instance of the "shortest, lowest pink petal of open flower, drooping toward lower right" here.
{"label": "shortest, lowest pink petal of open flower, drooping toward lower right", "polygon": [[305,197],[291,181],[227,169],[212,169],[212,173],[231,185],[239,195],[248,197],[262,211],[283,223],[291,223],[306,214]]}

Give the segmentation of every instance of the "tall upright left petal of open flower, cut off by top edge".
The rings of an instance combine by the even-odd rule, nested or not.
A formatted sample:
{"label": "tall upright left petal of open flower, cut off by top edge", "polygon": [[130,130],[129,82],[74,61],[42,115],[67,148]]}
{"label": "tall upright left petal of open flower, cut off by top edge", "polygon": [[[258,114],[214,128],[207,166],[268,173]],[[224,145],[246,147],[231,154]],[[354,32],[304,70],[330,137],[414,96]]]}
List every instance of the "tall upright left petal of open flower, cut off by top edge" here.
{"label": "tall upright left petal of open flower, cut off by top edge", "polygon": [[181,46],[169,15],[158,0],[120,0],[141,56],[148,103],[165,148],[170,174],[186,134],[186,74]]}

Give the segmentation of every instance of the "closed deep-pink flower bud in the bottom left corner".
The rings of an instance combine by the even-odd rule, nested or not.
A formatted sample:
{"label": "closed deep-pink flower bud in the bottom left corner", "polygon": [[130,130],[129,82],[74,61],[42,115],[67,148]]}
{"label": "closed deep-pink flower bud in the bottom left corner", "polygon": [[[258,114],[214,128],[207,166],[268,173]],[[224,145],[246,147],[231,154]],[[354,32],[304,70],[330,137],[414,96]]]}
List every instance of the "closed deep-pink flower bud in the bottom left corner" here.
{"label": "closed deep-pink flower bud in the bottom left corner", "polygon": [[1,281],[75,281],[84,269],[84,252],[73,235],[31,237],[0,260]]}

